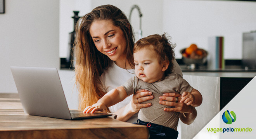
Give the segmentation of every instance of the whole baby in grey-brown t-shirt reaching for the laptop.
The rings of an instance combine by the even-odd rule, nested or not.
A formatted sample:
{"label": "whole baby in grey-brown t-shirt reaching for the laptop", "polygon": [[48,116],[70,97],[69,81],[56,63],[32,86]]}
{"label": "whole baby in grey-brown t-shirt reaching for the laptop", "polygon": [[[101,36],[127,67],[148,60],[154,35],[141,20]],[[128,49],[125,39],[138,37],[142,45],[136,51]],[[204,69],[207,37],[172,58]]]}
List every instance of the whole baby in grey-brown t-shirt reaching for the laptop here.
{"label": "whole baby in grey-brown t-shirt reaching for the laptop", "polygon": [[180,113],[165,112],[164,108],[170,106],[159,104],[157,98],[166,92],[182,93],[180,102],[197,107],[202,103],[202,95],[182,76],[171,72],[172,61],[175,58],[174,46],[165,34],[150,35],[138,40],[133,49],[136,76],[106,93],[97,103],[86,107],[84,112],[104,111],[107,107],[133,95],[137,90],[147,89],[152,92],[154,99],[142,102],[152,103],[152,106],[140,109],[138,124],[149,127],[150,138],[177,138]]}

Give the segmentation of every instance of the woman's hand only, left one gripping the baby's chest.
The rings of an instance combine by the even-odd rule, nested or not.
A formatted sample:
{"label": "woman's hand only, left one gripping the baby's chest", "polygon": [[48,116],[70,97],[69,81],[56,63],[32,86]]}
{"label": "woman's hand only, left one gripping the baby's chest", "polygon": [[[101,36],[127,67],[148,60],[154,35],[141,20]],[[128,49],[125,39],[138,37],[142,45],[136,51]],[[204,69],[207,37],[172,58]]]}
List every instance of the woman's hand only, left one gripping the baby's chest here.
{"label": "woman's hand only, left one gripping the baby's chest", "polygon": [[141,108],[150,107],[151,103],[143,103],[147,100],[153,99],[154,96],[152,92],[148,91],[147,89],[138,90],[132,97],[131,107],[133,108],[134,112],[138,112]]}

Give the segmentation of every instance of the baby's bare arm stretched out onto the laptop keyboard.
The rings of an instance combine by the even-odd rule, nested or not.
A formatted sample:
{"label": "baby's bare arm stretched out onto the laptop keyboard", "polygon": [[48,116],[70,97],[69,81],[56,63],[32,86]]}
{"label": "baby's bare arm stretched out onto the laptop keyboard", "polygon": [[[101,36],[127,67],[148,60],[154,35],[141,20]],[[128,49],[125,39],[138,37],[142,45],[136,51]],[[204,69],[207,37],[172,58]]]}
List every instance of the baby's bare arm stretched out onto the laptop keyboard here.
{"label": "baby's bare arm stretched out onto the laptop keyboard", "polygon": [[128,97],[125,88],[123,86],[119,86],[110,90],[106,95],[98,100],[97,103],[92,106],[88,106],[83,111],[84,113],[93,113],[95,111],[104,111],[107,107],[115,105],[118,102],[123,101],[126,97]]}

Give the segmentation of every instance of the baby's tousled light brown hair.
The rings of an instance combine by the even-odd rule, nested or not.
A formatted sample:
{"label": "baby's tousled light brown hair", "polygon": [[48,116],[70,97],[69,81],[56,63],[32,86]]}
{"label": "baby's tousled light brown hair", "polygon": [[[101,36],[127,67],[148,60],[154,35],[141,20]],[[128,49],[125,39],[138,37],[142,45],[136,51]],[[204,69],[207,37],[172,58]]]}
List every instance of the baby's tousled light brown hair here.
{"label": "baby's tousled light brown hair", "polygon": [[136,53],[142,48],[155,51],[158,54],[158,61],[160,64],[162,64],[164,61],[169,62],[168,69],[164,72],[164,75],[167,76],[173,71],[173,60],[175,59],[173,48],[176,46],[176,44],[173,44],[170,40],[171,37],[167,37],[166,33],[163,35],[154,34],[144,37],[135,43],[133,53]]}

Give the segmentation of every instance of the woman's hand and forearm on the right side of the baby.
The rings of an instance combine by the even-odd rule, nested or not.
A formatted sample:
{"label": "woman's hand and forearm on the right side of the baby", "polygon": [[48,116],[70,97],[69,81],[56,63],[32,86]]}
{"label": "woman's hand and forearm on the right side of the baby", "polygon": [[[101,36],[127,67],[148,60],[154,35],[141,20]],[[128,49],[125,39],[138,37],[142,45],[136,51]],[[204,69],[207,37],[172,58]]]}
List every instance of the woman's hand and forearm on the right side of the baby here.
{"label": "woman's hand and forearm on the right side of the baby", "polygon": [[[178,102],[176,102],[178,98]],[[164,93],[163,96],[159,97],[159,103],[166,106],[173,106],[173,108],[164,108],[166,112],[180,112],[180,113],[192,113],[193,107],[180,103],[181,95],[179,93]]]}

